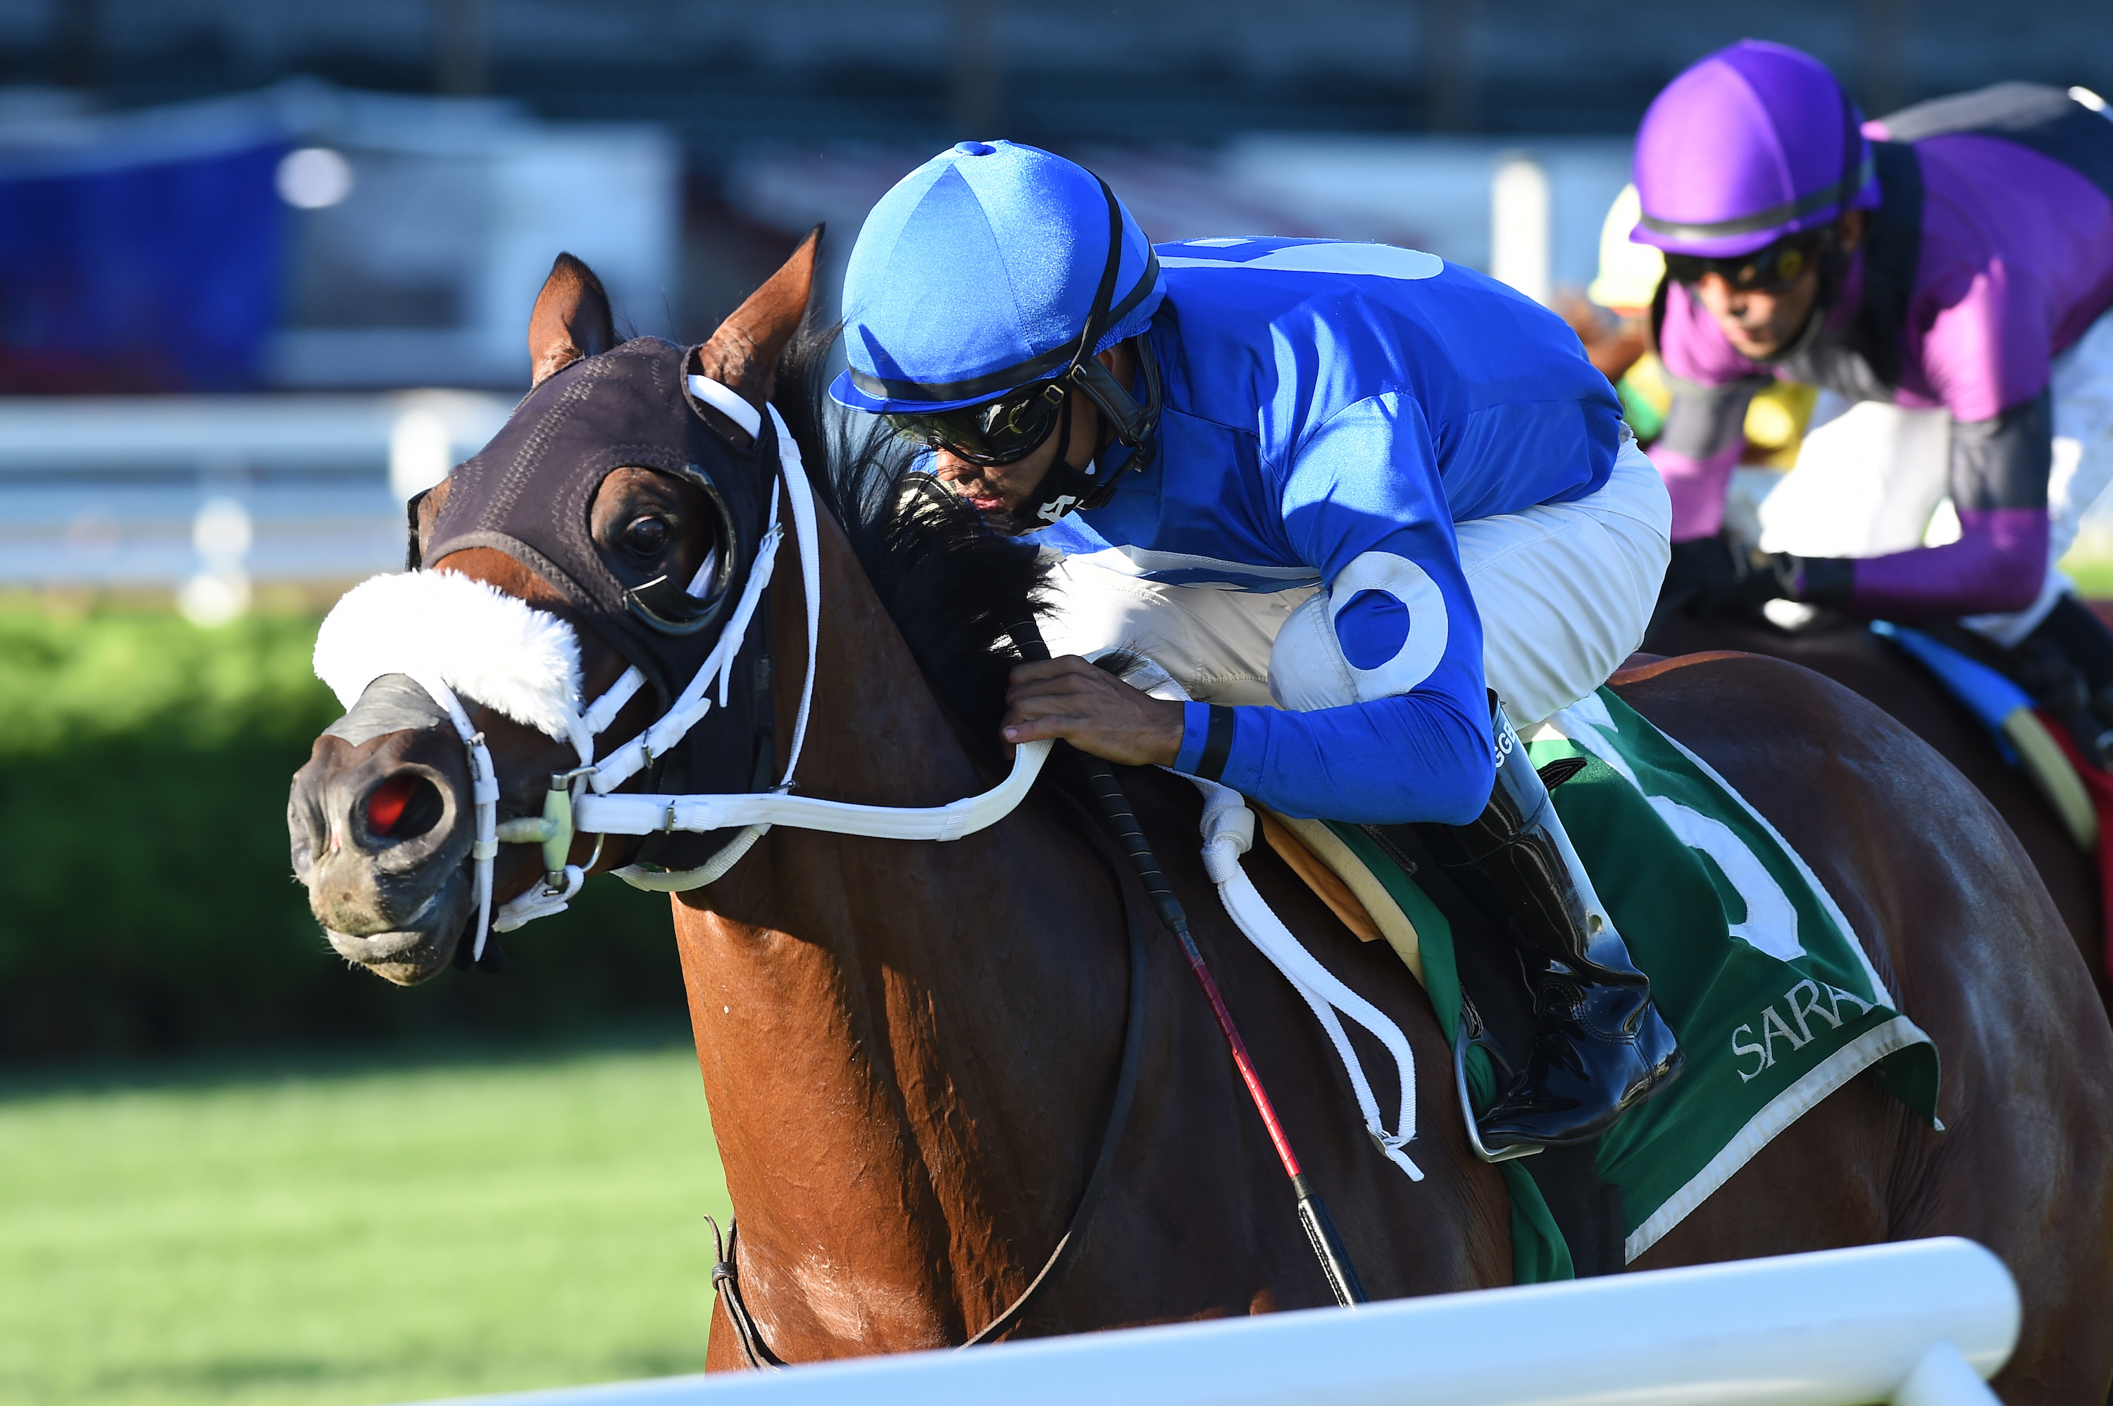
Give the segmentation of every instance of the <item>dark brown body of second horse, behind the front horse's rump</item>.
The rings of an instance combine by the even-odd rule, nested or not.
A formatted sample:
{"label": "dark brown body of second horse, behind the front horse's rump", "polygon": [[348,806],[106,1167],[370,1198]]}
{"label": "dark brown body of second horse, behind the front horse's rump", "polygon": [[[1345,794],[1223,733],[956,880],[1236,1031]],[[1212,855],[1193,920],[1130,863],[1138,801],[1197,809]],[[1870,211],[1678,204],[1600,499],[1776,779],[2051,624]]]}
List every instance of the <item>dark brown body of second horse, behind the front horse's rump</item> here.
{"label": "dark brown body of second horse, behind the front horse's rump", "polygon": [[1813,629],[1785,631],[1764,621],[1676,614],[1654,623],[1644,648],[1652,654],[1703,654],[1743,650],[1769,654],[1826,673],[1836,684],[1876,703],[1895,722],[1938,749],[1997,809],[2047,885],[2056,912],[2069,927],[2083,965],[2113,1009],[2113,982],[2105,965],[2105,901],[2098,857],[2077,849],[2054,809],[2016,766],[2003,760],[1988,730],[1957,703],[1929,673],[1900,650],[1864,629],[1859,621],[1836,619]]}

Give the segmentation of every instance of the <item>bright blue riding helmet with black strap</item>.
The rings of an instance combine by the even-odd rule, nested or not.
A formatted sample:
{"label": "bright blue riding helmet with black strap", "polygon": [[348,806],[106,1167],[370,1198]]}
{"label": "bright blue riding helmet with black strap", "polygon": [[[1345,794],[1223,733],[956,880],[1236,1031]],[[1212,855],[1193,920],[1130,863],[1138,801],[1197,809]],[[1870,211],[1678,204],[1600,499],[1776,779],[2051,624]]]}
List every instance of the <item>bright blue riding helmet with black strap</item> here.
{"label": "bright blue riding helmet with black strap", "polygon": [[[1097,296],[1101,331],[1082,348]],[[852,365],[830,395],[873,414],[976,405],[1135,338],[1164,296],[1145,232],[1097,175],[1016,141],[964,141],[866,215],[843,274]]]}

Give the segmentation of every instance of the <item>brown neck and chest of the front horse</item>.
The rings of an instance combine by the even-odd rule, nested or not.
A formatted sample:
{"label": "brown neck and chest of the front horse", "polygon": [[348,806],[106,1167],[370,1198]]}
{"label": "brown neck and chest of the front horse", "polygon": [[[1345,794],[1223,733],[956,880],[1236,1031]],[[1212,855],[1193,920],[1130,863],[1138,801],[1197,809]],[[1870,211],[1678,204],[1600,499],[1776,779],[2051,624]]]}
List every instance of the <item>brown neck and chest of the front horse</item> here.
{"label": "brown neck and chest of the front horse", "polygon": [[[801,792],[930,806],[983,790],[826,515],[820,536]],[[788,739],[794,572],[771,621]],[[951,844],[775,830],[678,899],[676,931],[771,1347],[936,1347],[989,1322],[1063,1233],[1120,1056],[1120,918],[1092,851],[1035,804]]]}

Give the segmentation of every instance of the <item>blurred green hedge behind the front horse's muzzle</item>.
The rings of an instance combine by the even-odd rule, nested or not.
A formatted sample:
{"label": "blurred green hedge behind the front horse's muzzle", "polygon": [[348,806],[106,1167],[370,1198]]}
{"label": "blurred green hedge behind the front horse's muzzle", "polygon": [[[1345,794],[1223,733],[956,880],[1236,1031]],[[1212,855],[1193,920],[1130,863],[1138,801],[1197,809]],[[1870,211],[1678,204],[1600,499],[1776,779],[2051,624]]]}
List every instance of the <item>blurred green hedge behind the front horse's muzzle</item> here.
{"label": "blurred green hedge behind the front horse's muzzle", "polygon": [[330,952],[285,836],[340,711],[315,627],[0,602],[0,1058],[678,1028],[666,899],[606,878],[501,975],[399,990]]}

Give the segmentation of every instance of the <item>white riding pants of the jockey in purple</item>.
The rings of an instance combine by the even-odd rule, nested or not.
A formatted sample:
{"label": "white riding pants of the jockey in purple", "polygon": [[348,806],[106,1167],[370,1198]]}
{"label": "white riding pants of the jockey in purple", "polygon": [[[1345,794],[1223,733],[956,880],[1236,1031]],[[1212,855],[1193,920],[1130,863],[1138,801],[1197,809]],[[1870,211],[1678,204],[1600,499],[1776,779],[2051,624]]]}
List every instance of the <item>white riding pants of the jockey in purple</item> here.
{"label": "white riding pants of the jockey in purple", "polygon": [[[2113,312],[2054,359],[2054,469],[2047,475],[2047,581],[2024,610],[1963,623],[2005,648],[2073,589],[2056,566],[2083,513],[2113,483]],[[1792,469],[1760,500],[1760,545],[1800,557],[1883,557],[1959,540],[1946,410],[1849,403],[1824,391]]]}

